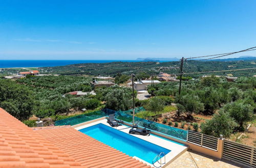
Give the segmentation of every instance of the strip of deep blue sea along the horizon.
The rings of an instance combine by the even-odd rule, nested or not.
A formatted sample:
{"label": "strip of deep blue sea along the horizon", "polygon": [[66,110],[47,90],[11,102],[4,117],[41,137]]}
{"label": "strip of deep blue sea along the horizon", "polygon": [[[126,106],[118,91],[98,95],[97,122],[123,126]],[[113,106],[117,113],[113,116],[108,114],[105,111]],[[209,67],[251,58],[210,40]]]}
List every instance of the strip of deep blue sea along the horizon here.
{"label": "strip of deep blue sea along the horizon", "polygon": [[81,63],[141,62],[138,60],[0,60],[0,68],[55,67]]}

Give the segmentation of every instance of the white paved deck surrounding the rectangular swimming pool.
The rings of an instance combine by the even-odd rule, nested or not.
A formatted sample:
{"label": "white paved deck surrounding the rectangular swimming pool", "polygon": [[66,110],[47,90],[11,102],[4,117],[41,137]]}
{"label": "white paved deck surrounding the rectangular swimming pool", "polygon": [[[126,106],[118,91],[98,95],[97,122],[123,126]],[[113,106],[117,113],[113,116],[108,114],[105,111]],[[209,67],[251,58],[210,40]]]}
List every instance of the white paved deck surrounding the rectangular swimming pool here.
{"label": "white paved deck surrounding the rectangular swimming pool", "polygon": [[[93,125],[96,125],[96,124],[100,124],[100,123],[111,127],[106,121],[107,121],[106,119],[103,119],[103,120],[95,121],[95,122],[88,123],[88,124],[84,123],[85,125],[78,126],[78,127],[74,126],[74,128],[76,130],[80,130],[80,129],[87,128],[87,127],[90,127],[90,126],[93,126]],[[129,130],[130,130],[129,129],[130,127],[128,127],[126,125],[122,125],[122,126],[118,126],[118,127],[112,127],[112,128],[118,129],[119,131],[122,131],[122,132],[125,132],[125,133],[129,133]],[[142,136],[142,135],[135,135],[135,134],[130,134],[130,135],[136,136],[136,137],[141,138],[141,139],[143,139],[147,142],[150,142],[152,144],[156,144],[160,147],[163,147],[163,148],[166,148],[166,149],[170,150],[170,152],[165,155],[166,164],[164,164],[162,167],[167,166],[169,163],[174,161],[177,157],[182,155],[188,149],[187,146],[185,146],[183,144],[179,144],[179,143],[176,143],[176,142],[173,142],[173,141],[170,141],[170,140],[166,140],[166,139],[154,136],[154,135],[151,135],[151,136]],[[152,163],[148,163],[148,162],[146,162],[146,161],[144,161],[144,160],[142,160],[142,159],[140,159],[136,156],[134,158],[136,158],[136,159],[154,167],[154,165]],[[164,159],[162,160],[162,162],[164,162]],[[159,166],[160,164],[158,164],[156,162],[155,165]]]}

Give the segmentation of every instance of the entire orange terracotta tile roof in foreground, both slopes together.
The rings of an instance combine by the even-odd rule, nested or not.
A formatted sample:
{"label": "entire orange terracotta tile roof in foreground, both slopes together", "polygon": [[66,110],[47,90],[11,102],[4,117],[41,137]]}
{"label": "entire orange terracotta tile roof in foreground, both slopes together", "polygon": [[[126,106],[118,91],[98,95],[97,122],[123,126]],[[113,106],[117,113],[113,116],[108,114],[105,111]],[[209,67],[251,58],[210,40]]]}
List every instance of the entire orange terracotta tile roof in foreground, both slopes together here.
{"label": "entire orange terracotta tile roof in foreground, both slopes together", "polygon": [[0,167],[150,167],[70,126],[29,128],[0,108]]}

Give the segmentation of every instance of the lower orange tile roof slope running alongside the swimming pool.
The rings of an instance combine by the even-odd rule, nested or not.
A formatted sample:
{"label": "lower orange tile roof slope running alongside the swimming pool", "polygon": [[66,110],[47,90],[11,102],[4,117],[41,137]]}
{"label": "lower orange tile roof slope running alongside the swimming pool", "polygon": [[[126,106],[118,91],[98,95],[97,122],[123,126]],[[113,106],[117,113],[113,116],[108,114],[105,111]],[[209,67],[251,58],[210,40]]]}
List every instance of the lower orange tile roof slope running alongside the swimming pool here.
{"label": "lower orange tile roof slope running alongside the swimming pool", "polygon": [[72,127],[41,127],[35,132],[86,167],[150,167]]}

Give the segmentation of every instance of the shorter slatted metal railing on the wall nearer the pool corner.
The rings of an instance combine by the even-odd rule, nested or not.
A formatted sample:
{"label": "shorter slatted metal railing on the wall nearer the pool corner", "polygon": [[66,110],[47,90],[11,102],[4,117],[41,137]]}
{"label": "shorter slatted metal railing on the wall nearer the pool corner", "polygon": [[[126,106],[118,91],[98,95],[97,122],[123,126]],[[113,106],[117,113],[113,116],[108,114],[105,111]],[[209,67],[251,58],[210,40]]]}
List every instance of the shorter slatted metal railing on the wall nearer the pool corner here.
{"label": "shorter slatted metal railing on the wall nearer the pool corner", "polygon": [[217,137],[188,130],[187,142],[217,151],[219,141]]}

